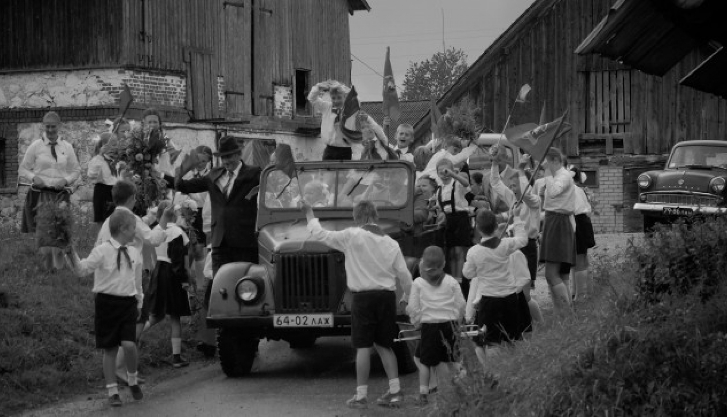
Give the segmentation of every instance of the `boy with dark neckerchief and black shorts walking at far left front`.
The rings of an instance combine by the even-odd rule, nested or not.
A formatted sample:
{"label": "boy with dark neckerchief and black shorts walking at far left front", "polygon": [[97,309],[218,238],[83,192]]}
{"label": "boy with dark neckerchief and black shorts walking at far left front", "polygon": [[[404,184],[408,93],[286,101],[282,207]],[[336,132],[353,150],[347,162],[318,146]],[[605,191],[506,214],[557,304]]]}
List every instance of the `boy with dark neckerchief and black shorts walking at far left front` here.
{"label": "boy with dark neckerchief and black shorts walking at far left front", "polygon": [[142,308],[142,259],[131,245],[136,235],[137,218],[126,211],[116,211],[108,218],[111,238],[95,247],[81,260],[71,247],[67,258],[79,277],[94,274],[94,330],[96,347],[103,349],[103,375],[108,389],[108,404],[121,405],[116,385],[116,353],[124,349],[127,377],[134,400],[144,395],[137,380],[138,353],[136,322]]}

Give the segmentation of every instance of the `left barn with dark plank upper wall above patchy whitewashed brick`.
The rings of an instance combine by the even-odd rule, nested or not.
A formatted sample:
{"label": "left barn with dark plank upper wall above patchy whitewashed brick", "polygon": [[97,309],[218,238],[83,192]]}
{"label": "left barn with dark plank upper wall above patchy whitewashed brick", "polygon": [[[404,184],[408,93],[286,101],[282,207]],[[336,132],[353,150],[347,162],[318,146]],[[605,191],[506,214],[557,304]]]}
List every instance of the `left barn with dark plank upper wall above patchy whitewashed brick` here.
{"label": "left barn with dark plank upper wall above patchy whitewashed brick", "polygon": [[[82,161],[104,120],[161,111],[182,148],[278,140],[307,159],[322,146],[306,100],[324,79],[350,84],[348,19],[366,0],[6,0],[0,2],[0,189],[48,110]],[[322,151],[321,151],[322,152]]]}

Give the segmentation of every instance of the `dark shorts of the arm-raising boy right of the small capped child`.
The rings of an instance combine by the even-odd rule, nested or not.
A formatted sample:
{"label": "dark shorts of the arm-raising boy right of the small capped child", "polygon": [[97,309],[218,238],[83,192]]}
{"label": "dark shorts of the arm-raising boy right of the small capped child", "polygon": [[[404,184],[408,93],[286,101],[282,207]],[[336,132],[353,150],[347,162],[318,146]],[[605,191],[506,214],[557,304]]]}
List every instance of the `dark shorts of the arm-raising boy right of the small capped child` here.
{"label": "dark shorts of the arm-raising boy right of the small capped child", "polygon": [[[523,297],[524,299],[524,297]],[[527,303],[526,303],[527,307]],[[518,293],[507,297],[486,297],[480,299],[477,312],[477,325],[486,325],[484,336],[475,338],[479,346],[497,345],[513,342],[522,338],[521,301]]]}

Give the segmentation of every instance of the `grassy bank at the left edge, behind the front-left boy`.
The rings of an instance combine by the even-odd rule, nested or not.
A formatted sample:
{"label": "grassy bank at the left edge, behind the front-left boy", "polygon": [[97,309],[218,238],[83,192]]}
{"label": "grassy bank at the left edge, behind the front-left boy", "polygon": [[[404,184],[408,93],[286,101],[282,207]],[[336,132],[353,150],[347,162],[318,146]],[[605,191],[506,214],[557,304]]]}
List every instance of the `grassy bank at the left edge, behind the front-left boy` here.
{"label": "grassy bank at the left edge, behind the front-left boy", "polygon": [[[96,239],[92,225],[79,220],[84,217],[76,213],[73,233],[81,257]],[[9,291],[10,300],[0,309],[0,415],[100,390],[93,277],[76,277],[68,269],[48,274],[31,237],[17,229],[3,230],[1,236],[0,287]],[[184,328],[189,341],[193,329]],[[147,375],[171,363],[168,325],[145,334],[140,354],[141,372]]]}

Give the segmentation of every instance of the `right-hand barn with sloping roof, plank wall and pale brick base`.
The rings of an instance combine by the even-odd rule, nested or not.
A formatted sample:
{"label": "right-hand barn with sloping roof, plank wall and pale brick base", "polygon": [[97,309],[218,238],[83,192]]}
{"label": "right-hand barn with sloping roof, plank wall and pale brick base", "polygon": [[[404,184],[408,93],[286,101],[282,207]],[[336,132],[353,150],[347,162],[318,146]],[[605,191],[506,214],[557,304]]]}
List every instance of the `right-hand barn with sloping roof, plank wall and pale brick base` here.
{"label": "right-hand barn with sloping roof, plank wall and pale brick base", "polygon": [[[725,139],[727,129],[725,100],[678,82],[712,55],[716,44],[694,44],[663,77],[606,57],[574,53],[613,4],[534,1],[438,100],[446,111],[464,97],[473,98],[482,108],[483,126],[494,132],[502,131],[525,83],[532,90],[527,103],[514,106],[510,125],[538,122],[544,108],[550,121],[569,108],[573,129],[558,146],[587,173],[597,197],[592,221],[602,233],[640,229],[640,214],[631,209],[640,172],[662,165],[681,140]],[[651,28],[639,32],[642,39],[664,30]],[[427,112],[417,122],[417,138],[430,134],[429,121]]]}

